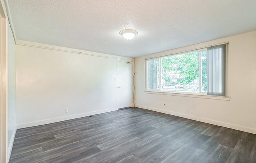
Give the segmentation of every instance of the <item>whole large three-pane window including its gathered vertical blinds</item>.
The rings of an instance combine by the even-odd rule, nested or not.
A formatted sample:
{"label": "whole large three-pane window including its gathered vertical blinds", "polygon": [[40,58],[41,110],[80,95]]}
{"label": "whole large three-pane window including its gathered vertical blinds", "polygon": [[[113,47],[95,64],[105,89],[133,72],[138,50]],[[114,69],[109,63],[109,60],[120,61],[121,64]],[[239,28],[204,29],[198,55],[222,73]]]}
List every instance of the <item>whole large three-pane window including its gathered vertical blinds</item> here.
{"label": "whole large three-pane window including its gathered vertical blinds", "polygon": [[225,44],[146,60],[146,91],[225,96]]}

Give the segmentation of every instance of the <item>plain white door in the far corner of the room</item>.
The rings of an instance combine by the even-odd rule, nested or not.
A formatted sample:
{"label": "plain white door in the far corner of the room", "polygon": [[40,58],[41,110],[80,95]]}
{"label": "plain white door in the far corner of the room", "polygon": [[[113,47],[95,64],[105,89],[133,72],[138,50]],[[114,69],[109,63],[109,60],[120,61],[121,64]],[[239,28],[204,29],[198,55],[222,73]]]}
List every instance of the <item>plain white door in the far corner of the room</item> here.
{"label": "plain white door in the far corner of the room", "polygon": [[117,108],[132,106],[132,64],[117,62]]}

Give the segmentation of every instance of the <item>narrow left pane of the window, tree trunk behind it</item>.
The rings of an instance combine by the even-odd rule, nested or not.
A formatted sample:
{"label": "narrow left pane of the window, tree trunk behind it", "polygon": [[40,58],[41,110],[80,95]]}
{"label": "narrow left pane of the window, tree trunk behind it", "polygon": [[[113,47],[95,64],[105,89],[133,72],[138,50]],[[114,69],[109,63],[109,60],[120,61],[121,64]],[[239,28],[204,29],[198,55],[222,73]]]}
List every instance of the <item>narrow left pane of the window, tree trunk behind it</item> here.
{"label": "narrow left pane of the window, tree trunk behind it", "polygon": [[159,89],[159,59],[148,61],[148,89]]}

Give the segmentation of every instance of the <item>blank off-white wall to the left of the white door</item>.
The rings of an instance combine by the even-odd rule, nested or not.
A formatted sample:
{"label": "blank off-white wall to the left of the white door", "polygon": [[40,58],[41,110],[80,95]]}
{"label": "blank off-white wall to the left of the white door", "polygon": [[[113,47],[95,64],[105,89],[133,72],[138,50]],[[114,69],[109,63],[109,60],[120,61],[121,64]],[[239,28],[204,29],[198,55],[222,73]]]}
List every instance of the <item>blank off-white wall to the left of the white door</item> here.
{"label": "blank off-white wall to the left of the white door", "polygon": [[17,127],[117,110],[118,56],[111,57],[16,45]]}

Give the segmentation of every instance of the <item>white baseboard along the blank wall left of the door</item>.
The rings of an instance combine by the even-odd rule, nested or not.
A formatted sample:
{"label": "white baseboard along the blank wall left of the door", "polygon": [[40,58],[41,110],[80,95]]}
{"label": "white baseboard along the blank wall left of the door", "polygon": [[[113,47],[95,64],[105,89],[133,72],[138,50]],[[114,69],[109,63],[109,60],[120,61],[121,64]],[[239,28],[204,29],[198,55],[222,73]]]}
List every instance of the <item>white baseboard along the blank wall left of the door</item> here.
{"label": "white baseboard along the blank wall left of the door", "polygon": [[117,110],[117,108],[99,110],[99,111],[94,111],[94,112],[86,112],[86,113],[75,114],[75,115],[71,115],[71,116],[51,118],[51,119],[47,119],[47,120],[21,123],[21,124],[17,124],[17,129],[22,129],[22,128],[26,128],[26,127],[33,127],[33,126],[38,126],[38,125],[45,125],[45,124],[55,123],[55,122],[59,122],[59,121],[66,121],[66,120],[71,120],[71,119],[75,119],[75,118],[91,116],[91,115],[94,115],[94,114],[101,114],[101,113],[105,113],[105,112],[111,112],[111,111],[115,111],[115,110]]}

